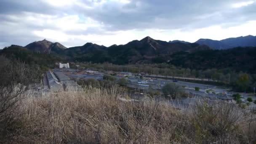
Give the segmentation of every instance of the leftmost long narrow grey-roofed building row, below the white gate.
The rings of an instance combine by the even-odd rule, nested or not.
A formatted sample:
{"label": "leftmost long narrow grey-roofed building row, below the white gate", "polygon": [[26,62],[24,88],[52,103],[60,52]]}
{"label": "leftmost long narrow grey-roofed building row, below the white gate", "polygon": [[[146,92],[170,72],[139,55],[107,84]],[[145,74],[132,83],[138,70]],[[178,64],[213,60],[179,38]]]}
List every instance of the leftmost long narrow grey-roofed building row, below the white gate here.
{"label": "leftmost long narrow grey-roofed building row, below the white gate", "polygon": [[53,74],[51,71],[46,72],[48,86],[51,91],[57,92],[57,91],[63,91],[63,87],[61,83],[59,83],[59,80],[57,77]]}

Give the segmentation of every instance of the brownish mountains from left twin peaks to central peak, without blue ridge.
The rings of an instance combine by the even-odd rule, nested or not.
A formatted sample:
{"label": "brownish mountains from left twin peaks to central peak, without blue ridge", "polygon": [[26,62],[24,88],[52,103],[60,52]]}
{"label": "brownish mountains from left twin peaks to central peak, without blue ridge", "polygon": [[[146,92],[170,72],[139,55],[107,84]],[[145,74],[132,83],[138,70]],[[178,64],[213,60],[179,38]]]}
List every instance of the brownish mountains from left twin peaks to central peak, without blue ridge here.
{"label": "brownish mountains from left twin peaks to central peak, without blue ridge", "polygon": [[[195,52],[210,49],[207,45],[197,43],[168,43],[145,37],[142,40],[133,40],[125,45],[105,47],[93,43],[66,48],[60,43],[42,40],[30,43],[24,48],[37,53],[53,53],[67,56],[77,61],[112,62],[115,64],[145,63],[145,61],[168,60],[168,55],[178,51]],[[166,59],[166,60],[163,60]]]}

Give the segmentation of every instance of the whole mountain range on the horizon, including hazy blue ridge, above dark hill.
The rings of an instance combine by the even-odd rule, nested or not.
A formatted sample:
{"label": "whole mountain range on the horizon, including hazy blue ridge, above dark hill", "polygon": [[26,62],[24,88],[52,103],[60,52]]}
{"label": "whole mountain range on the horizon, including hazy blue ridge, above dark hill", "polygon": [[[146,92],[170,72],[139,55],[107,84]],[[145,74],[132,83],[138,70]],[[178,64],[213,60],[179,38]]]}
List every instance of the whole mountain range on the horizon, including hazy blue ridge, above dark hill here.
{"label": "whole mountain range on the horizon, including hazy blue ridge, above dark hill", "polygon": [[[133,40],[125,45],[106,47],[93,43],[66,48],[60,43],[41,40],[30,43],[22,49],[35,53],[56,54],[69,61],[92,61],[94,63],[110,62],[113,64],[145,64],[163,63],[173,60],[173,54],[179,52],[196,53],[203,50],[222,50],[233,47],[255,46],[256,37],[236,37],[225,40],[200,39],[196,43],[181,40],[162,41],[145,37],[142,40]],[[12,45],[13,46],[13,45]],[[177,55],[180,56],[180,55]],[[188,55],[189,56],[189,55]],[[183,61],[179,59],[179,61]]]}

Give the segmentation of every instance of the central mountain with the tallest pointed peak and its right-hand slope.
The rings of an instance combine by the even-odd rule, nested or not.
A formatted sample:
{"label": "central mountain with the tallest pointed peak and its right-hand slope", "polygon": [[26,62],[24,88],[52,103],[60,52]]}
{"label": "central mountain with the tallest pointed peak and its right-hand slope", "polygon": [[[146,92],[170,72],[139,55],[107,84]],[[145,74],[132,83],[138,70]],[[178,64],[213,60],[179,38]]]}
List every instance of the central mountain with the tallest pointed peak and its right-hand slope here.
{"label": "central mountain with the tallest pointed peak and its right-hand slope", "polygon": [[[142,40],[133,40],[125,45],[112,45],[107,48],[107,56],[115,64],[151,63],[157,57],[165,57],[177,51],[194,52],[209,49],[208,46],[195,43],[168,43],[145,37]],[[166,58],[164,61],[167,61]]]}

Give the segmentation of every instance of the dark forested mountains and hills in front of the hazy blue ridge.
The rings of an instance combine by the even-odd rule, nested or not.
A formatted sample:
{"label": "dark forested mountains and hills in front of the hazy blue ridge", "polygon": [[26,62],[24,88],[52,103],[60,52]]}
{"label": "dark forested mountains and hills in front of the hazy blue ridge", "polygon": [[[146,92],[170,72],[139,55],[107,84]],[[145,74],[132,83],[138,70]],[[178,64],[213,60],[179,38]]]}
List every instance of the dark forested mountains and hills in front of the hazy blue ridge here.
{"label": "dark forested mountains and hills in front of the hazy blue ridge", "polygon": [[[253,36],[249,36],[253,38]],[[240,37],[246,39],[248,37]],[[223,40],[225,43],[234,39]],[[34,46],[33,46],[34,45]],[[43,50],[51,48],[51,54]],[[32,51],[29,51],[29,50]],[[38,53],[38,51],[45,53]],[[113,64],[152,64],[169,63],[190,69],[231,68],[235,71],[256,73],[256,48],[232,48],[212,50],[207,45],[197,43],[168,43],[145,37],[133,40],[125,45],[105,47],[93,43],[83,46],[65,48],[59,43],[47,40],[31,43],[26,47],[12,45],[0,51],[0,54],[13,56],[28,63],[46,66],[54,61],[91,61],[93,63],[109,62]]]}

